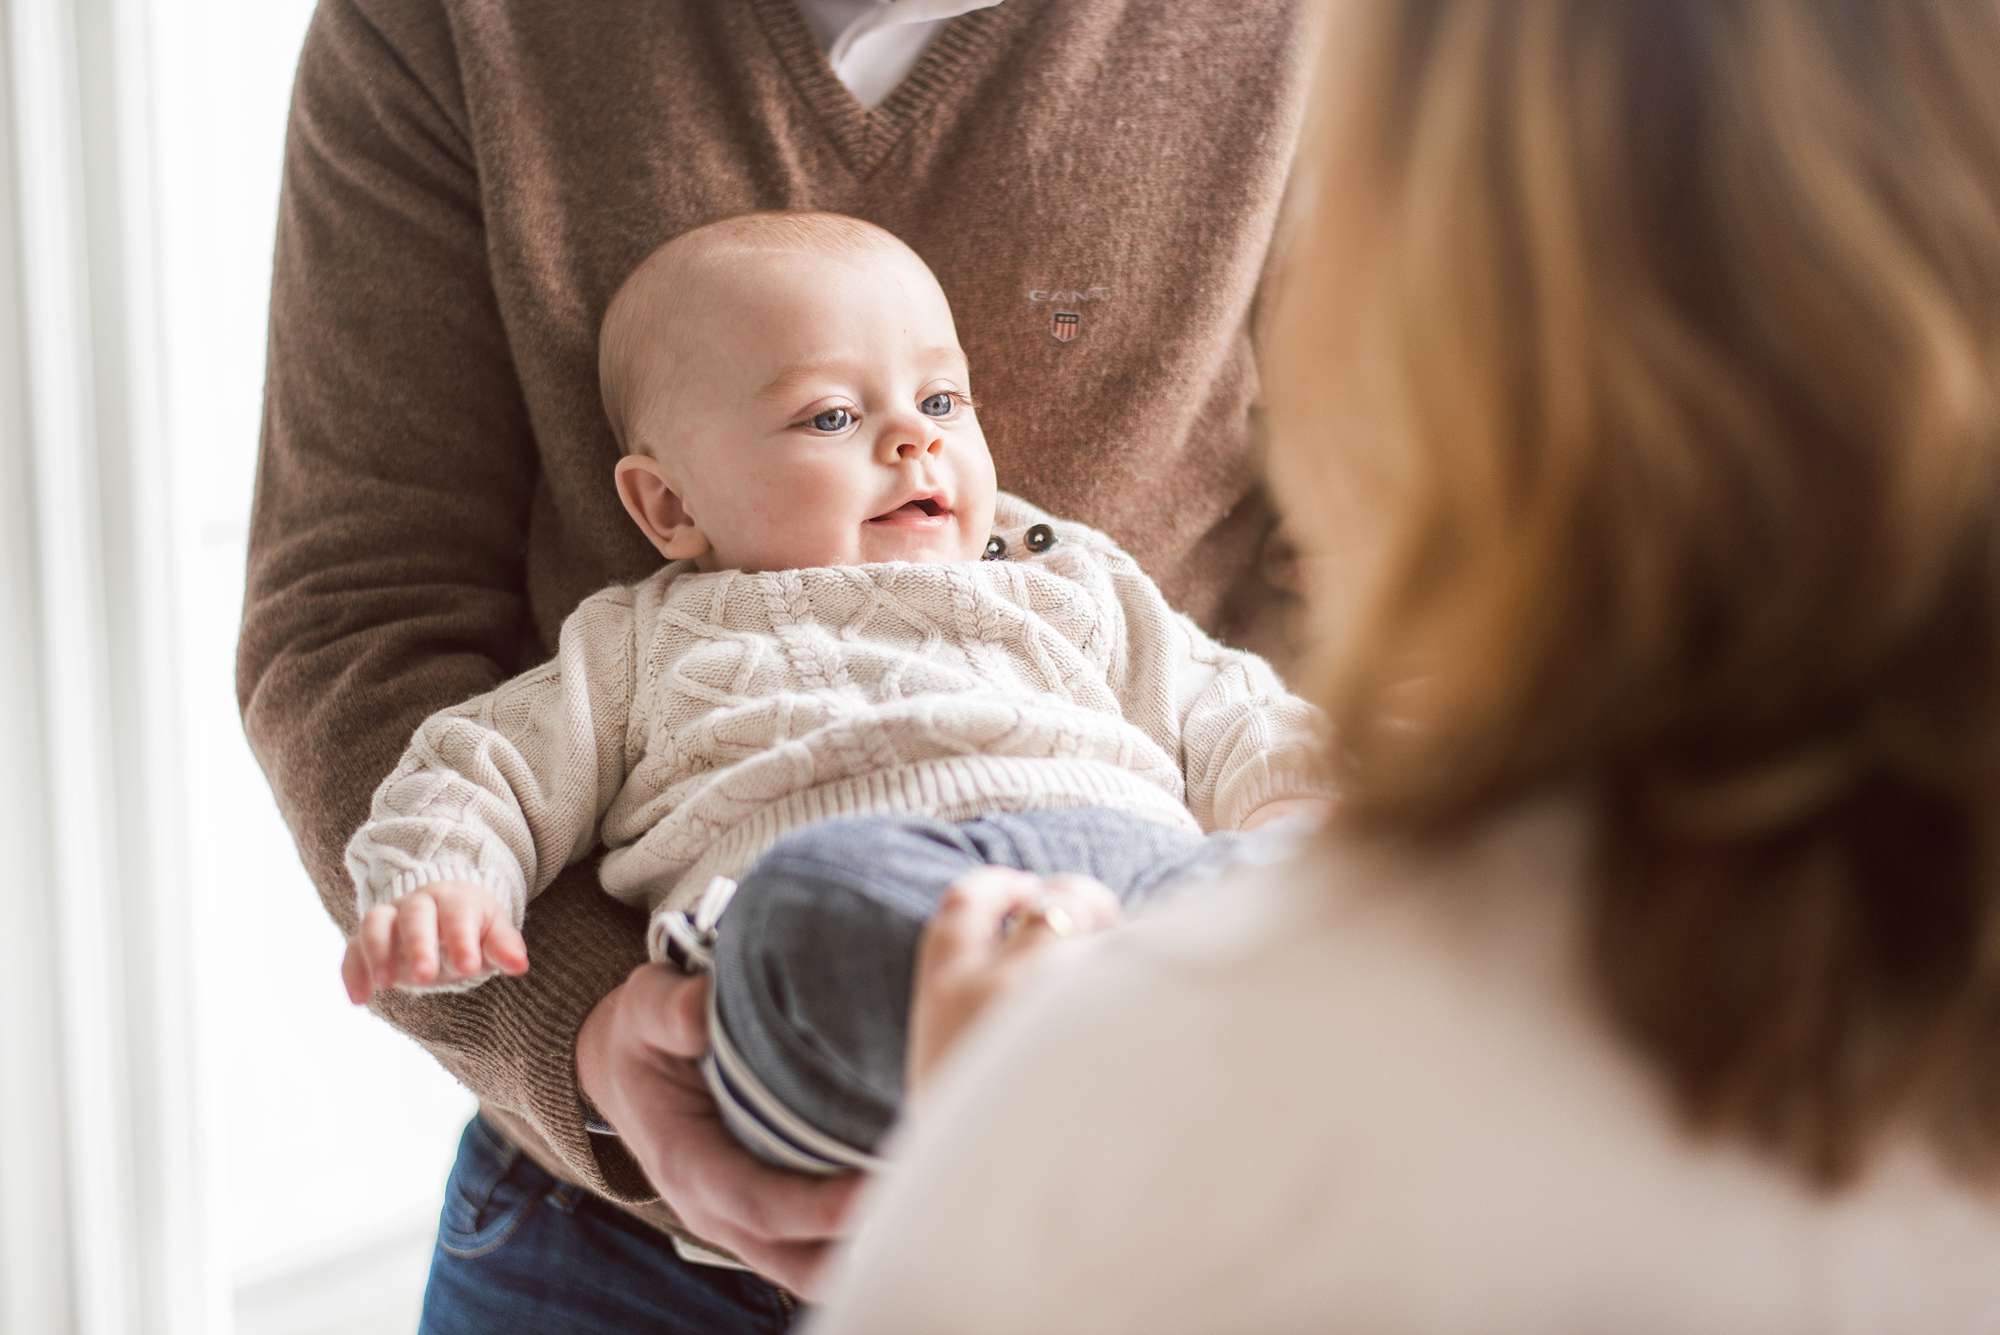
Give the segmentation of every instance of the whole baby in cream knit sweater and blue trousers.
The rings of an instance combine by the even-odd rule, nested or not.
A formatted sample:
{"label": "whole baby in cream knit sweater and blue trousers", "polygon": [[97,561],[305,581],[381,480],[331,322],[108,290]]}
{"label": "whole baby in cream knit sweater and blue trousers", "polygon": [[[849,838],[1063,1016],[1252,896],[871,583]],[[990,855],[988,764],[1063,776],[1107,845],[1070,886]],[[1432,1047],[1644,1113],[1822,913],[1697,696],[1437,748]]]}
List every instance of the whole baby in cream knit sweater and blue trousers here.
{"label": "whole baby in cream knit sweater and blue trousers", "polygon": [[652,957],[716,973],[704,1069],[736,1133],[870,1167],[954,879],[1132,903],[1242,853],[1208,831],[1324,811],[1310,705],[1102,534],[996,492],[950,306],[888,232],[678,236],[612,300],[600,376],[666,566],[418,729],[346,851],[356,1001],[526,971],[528,899],[602,843]]}

